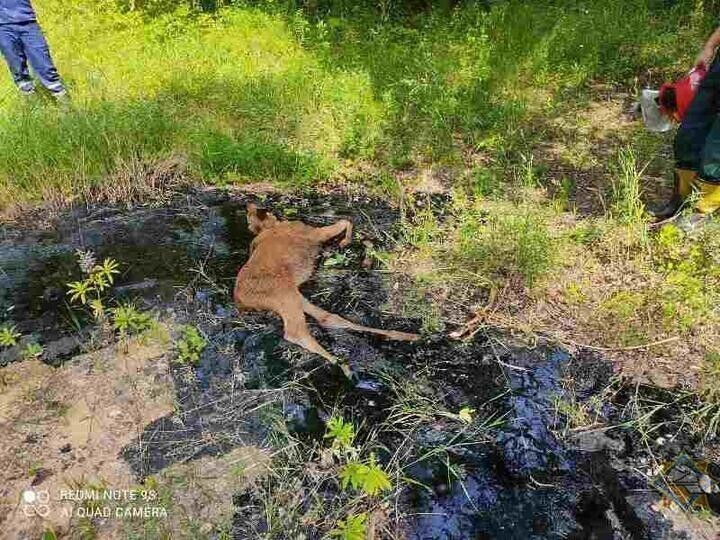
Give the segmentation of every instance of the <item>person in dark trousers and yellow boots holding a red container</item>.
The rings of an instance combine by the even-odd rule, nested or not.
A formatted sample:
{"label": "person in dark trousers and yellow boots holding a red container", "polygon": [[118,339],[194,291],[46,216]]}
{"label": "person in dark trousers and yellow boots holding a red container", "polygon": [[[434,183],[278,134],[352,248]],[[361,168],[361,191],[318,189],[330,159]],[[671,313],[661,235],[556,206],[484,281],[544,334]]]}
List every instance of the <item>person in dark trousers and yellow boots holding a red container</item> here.
{"label": "person in dark trousers and yellow boots holding a red container", "polygon": [[661,88],[661,111],[680,122],[674,141],[675,187],[672,199],[654,212],[672,217],[693,191],[695,210],[710,214],[720,208],[720,28],[703,46],[690,74]]}

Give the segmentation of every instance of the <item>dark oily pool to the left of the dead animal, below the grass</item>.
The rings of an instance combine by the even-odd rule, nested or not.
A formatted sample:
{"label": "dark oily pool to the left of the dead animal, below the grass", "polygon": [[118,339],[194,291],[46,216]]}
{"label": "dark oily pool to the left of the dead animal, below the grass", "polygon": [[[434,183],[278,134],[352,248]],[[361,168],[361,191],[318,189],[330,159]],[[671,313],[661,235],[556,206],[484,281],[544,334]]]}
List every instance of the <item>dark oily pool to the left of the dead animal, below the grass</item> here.
{"label": "dark oily pool to the left of the dead animal, below the grass", "polygon": [[[310,214],[317,225],[343,210],[362,211],[373,223],[394,221],[393,211],[382,205],[358,204],[353,211],[358,201],[338,197],[262,199],[290,218]],[[77,210],[43,230],[0,227],[0,324],[15,325],[24,336],[20,346],[0,352],[0,365],[18,359],[30,340],[44,345],[43,359],[51,365],[81,350],[91,321],[67,296],[68,284],[83,277],[78,249],[93,251],[98,261],[117,260],[121,274],[107,297],[141,308],[172,311],[182,291],[192,290],[199,299],[227,292],[252,240],[246,202],[211,191],[160,208]],[[188,287],[191,282],[202,283]]]}

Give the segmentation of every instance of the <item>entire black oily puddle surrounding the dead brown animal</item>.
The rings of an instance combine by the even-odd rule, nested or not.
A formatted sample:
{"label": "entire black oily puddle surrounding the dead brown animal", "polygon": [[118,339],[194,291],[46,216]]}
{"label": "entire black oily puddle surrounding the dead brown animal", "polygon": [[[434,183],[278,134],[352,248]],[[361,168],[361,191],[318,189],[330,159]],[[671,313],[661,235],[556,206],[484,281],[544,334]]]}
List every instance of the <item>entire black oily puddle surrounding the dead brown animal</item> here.
{"label": "entire black oily puddle surrounding the dead brown animal", "polygon": [[[360,426],[362,438],[387,419],[399,399],[397,387],[412,384],[439,409],[471,407],[478,418],[498,424],[482,437],[469,437],[458,422],[440,418],[413,433],[416,459],[409,461],[416,463],[405,474],[418,484],[402,492],[397,506],[405,537],[681,537],[651,509],[658,495],[638,472],[647,468],[648,456],[637,434],[615,429],[582,440],[556,436],[564,421],[556,402],[569,399],[568,388],[583,403],[608,385],[612,370],[601,358],[571,357],[549,346],[506,347],[501,333],[467,343],[434,337],[409,344],[314,327],[324,346],[350,361],[357,375],[350,384],[337,368],[284,342],[276,317],[239,316],[230,290],[251,240],[246,202],[245,196],[205,192],[161,208],[75,213],[49,232],[2,231],[0,313],[46,345],[47,362],[62,362],[83,341],[65,299],[66,284],[81,277],[76,249],[120,263],[113,297],[134,299],[208,336],[197,367],[173,364],[177,412],[147,426],[122,453],[139,478],[243,445],[269,446],[268,425],[278,419],[301,438],[321,439],[337,407]],[[303,290],[314,303],[369,326],[417,328],[413,320],[382,313],[391,283],[362,264],[367,243],[388,245],[397,212],[379,201],[342,196],[270,196],[264,204],[314,225],[353,218],[356,240],[346,257],[332,267],[321,265]],[[442,201],[426,204],[442,208]],[[72,345],[52,350],[63,341]],[[3,354],[4,362],[14,359]],[[642,392],[660,399],[656,389]],[[631,397],[617,393],[600,411],[601,421],[620,423]],[[384,431],[381,442],[392,449],[403,437]],[[673,441],[656,453],[671,459],[684,450],[700,457],[698,441]],[[433,452],[438,449],[443,450]],[[425,455],[435,457],[418,459]],[[461,480],[448,465],[462,471]],[[236,503],[234,536],[256,537],[248,531],[263,530],[259,501],[247,492]],[[307,538],[322,536],[304,532]]]}

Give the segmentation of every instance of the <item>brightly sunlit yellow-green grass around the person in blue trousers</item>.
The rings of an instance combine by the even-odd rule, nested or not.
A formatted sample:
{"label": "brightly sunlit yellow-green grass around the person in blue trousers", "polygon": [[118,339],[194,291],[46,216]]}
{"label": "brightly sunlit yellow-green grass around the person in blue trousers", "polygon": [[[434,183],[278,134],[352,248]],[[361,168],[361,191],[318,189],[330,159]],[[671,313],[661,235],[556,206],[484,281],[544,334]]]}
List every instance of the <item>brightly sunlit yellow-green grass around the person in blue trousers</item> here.
{"label": "brightly sunlit yellow-green grass around the person in blue trousers", "polygon": [[172,154],[211,182],[304,183],[363,155],[378,129],[367,77],[321,67],[277,16],[146,21],[108,4],[37,7],[73,107],[24,103],[3,81],[0,205],[71,197],[125,162]]}

